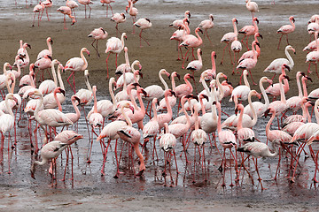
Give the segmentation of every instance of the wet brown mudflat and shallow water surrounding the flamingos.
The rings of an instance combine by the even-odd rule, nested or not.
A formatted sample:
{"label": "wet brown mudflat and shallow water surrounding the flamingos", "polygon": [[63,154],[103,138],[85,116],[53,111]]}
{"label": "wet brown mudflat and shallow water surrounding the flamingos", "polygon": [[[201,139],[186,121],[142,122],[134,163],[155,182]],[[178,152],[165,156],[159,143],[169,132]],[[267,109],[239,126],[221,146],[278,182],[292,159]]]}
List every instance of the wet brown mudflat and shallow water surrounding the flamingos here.
{"label": "wet brown mudflat and shallow water surrounding the flamingos", "polygon": [[[97,3],[99,4],[99,3]],[[136,4],[136,7],[138,4]],[[295,73],[297,71],[307,72],[307,64],[305,64],[306,53],[302,49],[309,42],[307,34],[307,19],[310,18],[318,4],[299,4],[292,5],[287,10],[286,4],[262,4],[260,12],[256,14],[260,19],[260,33],[264,39],[261,42],[261,57],[258,60],[256,67],[253,69],[253,78],[258,81],[262,76],[272,77],[272,74],[264,74],[263,70],[270,62],[278,57],[284,56],[284,47],[286,45],[283,38],[281,47],[276,49],[279,35],[276,30],[283,24],[289,24],[289,16],[294,15],[296,19],[296,30],[289,35],[290,43],[296,49],[297,54],[293,55],[295,66],[292,72],[288,75],[292,79],[290,91],[286,95],[290,97],[297,94],[295,81]],[[238,29],[245,25],[250,25],[250,12],[246,11],[245,4],[239,7],[224,7],[218,5],[197,5],[181,4],[181,5],[158,5],[155,8],[152,5],[144,5],[139,7],[138,18],[148,17],[152,20],[152,28],[144,31],[144,37],[150,42],[151,46],[143,43],[144,48],[139,48],[138,33],[131,34],[131,19],[127,17],[127,22],[120,25],[122,32],[127,32],[128,40],[125,45],[128,47],[129,61],[133,62],[138,59],[143,65],[144,79],[140,80],[143,87],[152,84],[159,84],[158,72],[161,68],[165,68],[167,72],[179,72],[184,75],[186,70],[181,68],[182,62],[176,61],[177,51],[175,50],[175,41],[170,41],[169,37],[175,31],[167,27],[175,18],[183,18],[183,12],[190,10],[191,32],[198,26],[202,19],[207,19],[208,14],[216,14],[214,16],[214,28],[208,31],[214,46],[212,47],[208,40],[204,39],[204,44],[201,46],[203,51],[203,71],[211,67],[210,55],[214,50],[217,54],[217,72],[224,72],[229,76],[233,85],[237,85],[240,74],[231,75],[233,66],[230,64],[228,54],[225,54],[225,63],[220,65],[222,60],[222,48],[224,44],[220,42],[222,35],[233,31],[231,26],[231,18],[241,16],[248,21],[242,22],[238,19]],[[19,48],[19,40],[31,44],[32,49],[28,49],[31,62],[35,61],[35,57],[41,49],[46,49],[45,39],[51,36],[53,39],[53,58],[57,58],[62,64],[71,57],[79,57],[80,49],[87,47],[90,50],[90,57],[87,57],[89,63],[89,81],[91,85],[97,85],[97,100],[110,99],[108,93],[108,79],[106,79],[105,67],[105,41],[99,42],[100,58],[97,58],[95,50],[90,46],[92,42],[87,35],[96,27],[104,27],[109,36],[115,36],[113,22],[106,19],[105,16],[96,17],[92,13],[91,19],[83,19],[83,8],[77,10],[80,18],[78,22],[71,27],[70,20],[67,19],[68,30],[63,29],[63,16],[56,14],[56,7],[52,7],[53,19],[47,21],[43,15],[41,27],[31,27],[32,12],[30,9],[25,9],[23,4],[12,10],[23,11],[27,13],[26,19],[15,18],[3,19],[1,25],[1,42],[0,42],[0,62],[10,62],[13,64],[13,59]],[[113,5],[113,11],[123,11],[120,6]],[[94,10],[92,10],[94,12]],[[17,13],[17,14],[18,14]],[[103,13],[104,14],[104,13]],[[204,15],[205,14],[205,15]],[[230,15],[233,14],[233,15]],[[60,15],[60,16],[59,16]],[[171,17],[173,16],[173,19]],[[300,22],[300,19],[306,20]],[[18,20],[19,19],[19,20]],[[239,35],[241,39],[242,36]],[[250,42],[252,38],[250,38]],[[245,47],[243,51],[245,51]],[[183,50],[183,52],[185,52]],[[119,57],[119,64],[124,63],[124,54]],[[187,63],[187,62],[186,62]],[[114,56],[109,60],[110,74],[114,76]],[[307,84],[307,90],[318,87],[317,76],[315,69],[312,67],[313,73],[310,76],[314,82]],[[25,71],[24,74],[27,72]],[[85,87],[84,78],[81,73],[76,73],[76,87]],[[71,101],[72,95],[70,87],[66,83],[66,78],[69,72],[63,74],[63,79],[66,86],[66,102],[63,105],[64,111],[73,111]],[[200,73],[195,73],[198,81]],[[251,80],[250,80],[251,81]],[[168,82],[168,79],[167,79]],[[277,82],[277,79],[275,80]],[[182,83],[177,81],[176,84]],[[169,85],[169,84],[168,84]],[[260,90],[254,86],[254,89]],[[198,90],[202,87],[198,83]],[[16,92],[18,88],[16,87]],[[91,103],[93,105],[93,103]],[[233,113],[233,105],[228,102],[228,98],[222,101],[223,110],[230,114]],[[86,109],[90,110],[90,107]],[[176,114],[175,108],[175,114]],[[26,117],[26,115],[24,115]],[[226,117],[222,116],[224,120]],[[315,119],[313,119],[315,120]],[[148,118],[144,119],[144,123]],[[265,126],[268,118],[260,118],[254,131],[259,140],[266,142]],[[290,184],[286,178],[288,176],[290,159],[284,158],[281,163],[280,174],[276,181],[272,178],[275,176],[276,164],[278,157],[259,159],[261,178],[263,185],[267,190],[261,192],[261,186],[258,184],[257,174],[253,167],[253,162],[250,163],[253,172],[254,185],[251,180],[245,175],[245,178],[240,180],[239,186],[230,187],[230,169],[226,171],[226,187],[222,188],[222,175],[217,168],[222,162],[215,148],[210,148],[209,143],[206,144],[206,165],[207,165],[207,182],[204,182],[204,175],[200,166],[197,166],[198,174],[196,183],[192,183],[193,178],[193,163],[186,166],[184,155],[182,158],[179,155],[182,153],[182,146],[179,142],[176,148],[177,163],[180,174],[176,175],[175,164],[172,165],[171,176],[174,179],[175,187],[164,187],[164,177],[161,173],[164,170],[164,161],[162,151],[158,148],[159,162],[152,159],[152,142],[144,151],[146,162],[146,170],[143,178],[135,178],[133,170],[129,169],[128,150],[124,148],[124,158],[121,161],[120,178],[115,179],[113,175],[116,171],[116,162],[114,158],[114,142],[112,141],[111,149],[107,156],[105,167],[105,176],[101,177],[100,170],[102,166],[102,154],[99,145],[96,141],[93,144],[92,163],[86,163],[86,157],[89,148],[89,136],[87,127],[82,113],[82,118],[79,122],[79,133],[84,135],[84,139],[79,140],[73,147],[74,151],[74,181],[66,180],[66,182],[58,181],[57,186],[51,186],[51,177],[48,173],[49,165],[39,167],[35,173],[35,180],[30,178],[29,168],[31,162],[35,160],[35,156],[31,155],[30,151],[30,134],[27,128],[18,128],[18,146],[12,150],[11,166],[12,174],[7,174],[8,170],[8,155],[7,150],[4,150],[4,162],[1,164],[0,174],[0,210],[17,211],[35,209],[36,211],[43,210],[79,210],[88,211],[107,209],[110,211],[315,211],[318,208],[317,188],[313,183],[315,173],[315,164],[311,158],[306,158],[304,155],[300,159],[300,167],[297,171],[298,178],[296,183]],[[272,126],[276,129],[276,124]],[[42,135],[43,136],[43,135]],[[96,138],[94,139],[96,140]],[[218,143],[218,140],[217,140]],[[4,145],[7,144],[5,140]],[[122,143],[120,142],[120,145]],[[6,147],[6,146],[4,146]],[[218,147],[222,150],[222,147]],[[314,150],[318,149],[317,144],[313,145]],[[190,145],[188,155],[190,160],[193,160],[193,145]],[[284,153],[285,154],[285,153]],[[58,158],[58,179],[63,177],[63,170],[66,164],[66,155]],[[135,160],[135,171],[137,170],[137,160]],[[167,175],[167,182],[170,183],[170,175]],[[71,178],[70,166],[67,170],[66,178]]]}

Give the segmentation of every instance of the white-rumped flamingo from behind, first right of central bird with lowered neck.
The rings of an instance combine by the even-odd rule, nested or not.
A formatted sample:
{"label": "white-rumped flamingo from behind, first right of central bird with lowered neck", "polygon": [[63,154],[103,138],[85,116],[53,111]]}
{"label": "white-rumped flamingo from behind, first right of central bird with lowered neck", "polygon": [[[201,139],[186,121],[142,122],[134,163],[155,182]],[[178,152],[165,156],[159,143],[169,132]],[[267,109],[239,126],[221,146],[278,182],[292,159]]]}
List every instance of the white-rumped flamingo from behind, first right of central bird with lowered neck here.
{"label": "white-rumped flamingo from behind, first right of central bird with lowered neck", "polygon": [[[173,151],[173,155],[175,158],[175,165],[176,165],[176,172],[178,173],[178,168],[177,168],[177,163],[176,163],[176,155],[175,155],[175,147],[176,147],[176,138],[172,133],[169,133],[168,129],[168,124],[164,123],[165,125],[165,133],[160,136],[159,139],[159,148],[163,149],[164,151],[164,161],[165,161],[165,170],[164,170],[164,175],[166,176],[166,167],[167,167],[167,162],[169,162],[169,172],[170,172],[170,152]],[[171,186],[174,185],[173,178],[171,175]],[[166,185],[166,178],[165,178],[165,184]]]}

